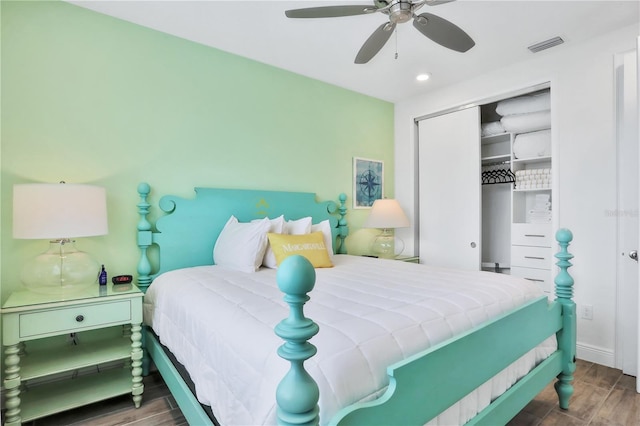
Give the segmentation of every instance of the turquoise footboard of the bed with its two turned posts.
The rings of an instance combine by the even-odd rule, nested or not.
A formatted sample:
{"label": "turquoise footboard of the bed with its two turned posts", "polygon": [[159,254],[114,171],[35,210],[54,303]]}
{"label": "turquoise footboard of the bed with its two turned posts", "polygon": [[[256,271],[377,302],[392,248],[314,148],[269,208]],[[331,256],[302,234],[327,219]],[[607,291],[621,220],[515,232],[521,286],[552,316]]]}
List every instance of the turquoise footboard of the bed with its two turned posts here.
{"label": "turquoise footboard of the bed with its two turned posts", "polygon": [[[553,378],[559,405],[568,408],[575,371],[576,318],[573,279],[567,272],[573,257],[567,247],[573,236],[556,234],[560,273],[555,279],[556,300],[540,297],[460,336],[442,342],[388,368],[389,387],[379,399],[354,404],[330,421],[333,425],[422,425],[485,383],[543,340],[556,334],[558,349],[469,424],[506,424]],[[277,327],[285,340],[279,355],[291,369],[276,394],[278,421],[284,425],[317,424],[318,387],[304,370],[315,354],[308,339],[318,331],[305,318],[303,304],[313,289],[315,273],[303,257],[290,257],[278,270],[278,285],[291,313]]]}

